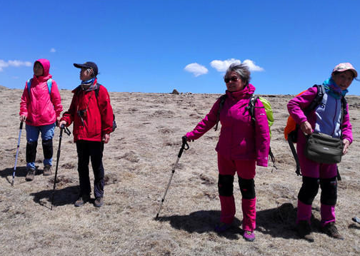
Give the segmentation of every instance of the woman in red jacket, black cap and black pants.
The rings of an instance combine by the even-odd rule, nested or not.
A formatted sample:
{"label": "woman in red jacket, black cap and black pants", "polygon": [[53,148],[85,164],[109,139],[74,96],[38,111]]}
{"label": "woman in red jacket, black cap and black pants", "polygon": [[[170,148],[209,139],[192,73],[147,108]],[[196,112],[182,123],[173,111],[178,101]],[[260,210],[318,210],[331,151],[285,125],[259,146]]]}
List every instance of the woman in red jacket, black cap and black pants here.
{"label": "woman in red jacket, black cap and black pants", "polygon": [[81,68],[81,85],[76,87],[69,111],[61,118],[59,126],[70,126],[74,122],[73,134],[78,153],[78,172],[80,196],[75,206],[84,205],[90,200],[91,185],[89,178],[89,160],[94,171],[94,195],[96,207],[104,200],[104,167],[102,156],[104,143],[108,143],[113,131],[113,110],[109,93],[97,83],[98,67],[94,62],[75,64]]}

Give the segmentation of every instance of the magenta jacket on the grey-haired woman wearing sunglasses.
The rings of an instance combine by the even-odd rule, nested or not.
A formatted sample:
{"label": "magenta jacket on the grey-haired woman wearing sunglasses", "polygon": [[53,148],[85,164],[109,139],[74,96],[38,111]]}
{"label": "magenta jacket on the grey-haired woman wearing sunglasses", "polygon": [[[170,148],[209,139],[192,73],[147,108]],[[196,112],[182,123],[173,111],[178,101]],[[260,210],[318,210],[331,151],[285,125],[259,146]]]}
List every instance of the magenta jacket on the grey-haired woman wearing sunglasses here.
{"label": "magenta jacket on the grey-haired woman wearing sunglasses", "polygon": [[[249,105],[255,87],[249,83],[241,91],[226,91],[226,100],[220,113],[221,131],[216,151],[229,160],[256,160],[256,165],[268,165],[270,135],[269,124],[261,101],[256,101],[255,124],[251,121]],[[196,140],[216,124],[218,99],[211,111],[186,137]],[[262,107],[262,108],[261,108]],[[254,127],[255,126],[255,127]]]}

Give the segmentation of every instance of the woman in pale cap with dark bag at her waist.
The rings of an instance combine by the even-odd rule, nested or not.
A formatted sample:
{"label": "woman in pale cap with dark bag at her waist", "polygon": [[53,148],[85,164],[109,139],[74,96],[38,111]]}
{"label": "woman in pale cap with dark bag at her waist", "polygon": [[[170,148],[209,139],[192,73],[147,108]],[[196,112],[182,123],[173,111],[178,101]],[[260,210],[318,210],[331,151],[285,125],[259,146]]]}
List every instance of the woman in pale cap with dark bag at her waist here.
{"label": "woman in pale cap with dark bag at her waist", "polygon": [[[309,88],[299,96],[291,99],[288,110],[294,121],[299,125],[296,151],[303,175],[302,185],[298,195],[298,211],[296,229],[299,237],[314,241],[311,233],[311,204],[321,188],[321,230],[330,237],[344,239],[335,226],[335,205],[337,199],[337,165],[316,163],[304,155],[306,135],[325,133],[333,138],[341,138],[344,143],[343,153],[346,154],[352,143],[351,123],[349,121],[349,106],[346,104],[342,114],[341,98],[348,92],[351,82],[357,72],[350,63],[340,63],[324,81],[324,96],[314,111],[305,115],[304,110],[310,106],[317,95],[316,86]],[[342,120],[342,123],[341,123]]]}

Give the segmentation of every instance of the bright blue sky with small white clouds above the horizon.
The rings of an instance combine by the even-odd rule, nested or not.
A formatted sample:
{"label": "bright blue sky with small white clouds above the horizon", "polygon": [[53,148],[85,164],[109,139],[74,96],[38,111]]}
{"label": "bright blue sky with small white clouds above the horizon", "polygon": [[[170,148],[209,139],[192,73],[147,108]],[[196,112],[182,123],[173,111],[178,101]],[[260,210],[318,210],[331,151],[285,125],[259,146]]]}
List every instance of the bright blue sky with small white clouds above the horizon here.
{"label": "bright blue sky with small white clouds above the horizon", "polygon": [[[251,67],[257,93],[296,94],[350,62],[360,71],[360,1],[1,1],[0,85],[24,88],[38,58],[60,88],[94,61],[109,91],[224,93]],[[354,81],[349,94],[360,95]]]}

